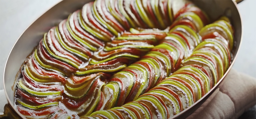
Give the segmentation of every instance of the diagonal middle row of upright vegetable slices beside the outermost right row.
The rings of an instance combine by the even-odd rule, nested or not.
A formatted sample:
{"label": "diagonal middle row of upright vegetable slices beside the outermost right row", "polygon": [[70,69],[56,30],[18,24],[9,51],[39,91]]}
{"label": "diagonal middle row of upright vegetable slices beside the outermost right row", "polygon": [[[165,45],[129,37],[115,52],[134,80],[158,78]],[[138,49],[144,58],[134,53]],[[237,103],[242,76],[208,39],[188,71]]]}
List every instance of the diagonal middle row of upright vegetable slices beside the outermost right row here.
{"label": "diagonal middle row of upright vegetable slices beside the outermost right row", "polygon": [[[186,44],[185,37],[177,29],[185,28],[184,31],[193,32],[190,34],[197,40]],[[175,31],[176,30],[176,31]],[[175,31],[175,32],[174,32]],[[175,34],[177,33],[177,34]],[[134,101],[138,96],[153,88],[160,81],[169,77],[172,72],[178,69],[184,57],[187,57],[192,48],[189,45],[199,44],[200,39],[191,28],[178,25],[170,30],[170,34],[155,46],[150,52],[141,57],[141,60],[115,73],[104,90],[104,101],[101,109],[109,109],[115,106],[122,106],[125,102]],[[198,43],[199,42],[199,43]],[[185,55],[186,54],[186,55]],[[110,86],[114,86],[110,88]],[[106,92],[106,90],[108,92]]]}

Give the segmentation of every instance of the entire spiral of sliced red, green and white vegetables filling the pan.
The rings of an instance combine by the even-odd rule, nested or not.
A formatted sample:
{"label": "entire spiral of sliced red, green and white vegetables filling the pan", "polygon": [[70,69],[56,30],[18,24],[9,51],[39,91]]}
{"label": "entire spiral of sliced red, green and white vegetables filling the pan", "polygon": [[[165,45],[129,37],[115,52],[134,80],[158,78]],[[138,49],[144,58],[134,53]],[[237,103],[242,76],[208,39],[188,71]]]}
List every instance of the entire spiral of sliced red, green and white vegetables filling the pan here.
{"label": "entire spiral of sliced red, green and white vegetables filling the pan", "polygon": [[171,118],[230,65],[230,21],[208,23],[186,0],[87,3],[25,62],[16,108],[29,119]]}

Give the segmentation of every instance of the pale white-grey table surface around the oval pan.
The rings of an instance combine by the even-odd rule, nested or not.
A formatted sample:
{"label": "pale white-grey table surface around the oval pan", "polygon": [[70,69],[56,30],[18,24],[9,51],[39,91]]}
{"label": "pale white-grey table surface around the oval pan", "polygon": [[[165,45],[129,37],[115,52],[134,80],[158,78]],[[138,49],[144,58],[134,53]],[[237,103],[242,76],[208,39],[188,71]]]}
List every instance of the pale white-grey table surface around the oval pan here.
{"label": "pale white-grey table surface around the oval pan", "polygon": [[[15,41],[32,21],[58,1],[0,0],[0,90],[3,89],[4,65]],[[238,7],[244,34],[233,68],[256,78],[256,0],[244,0]]]}

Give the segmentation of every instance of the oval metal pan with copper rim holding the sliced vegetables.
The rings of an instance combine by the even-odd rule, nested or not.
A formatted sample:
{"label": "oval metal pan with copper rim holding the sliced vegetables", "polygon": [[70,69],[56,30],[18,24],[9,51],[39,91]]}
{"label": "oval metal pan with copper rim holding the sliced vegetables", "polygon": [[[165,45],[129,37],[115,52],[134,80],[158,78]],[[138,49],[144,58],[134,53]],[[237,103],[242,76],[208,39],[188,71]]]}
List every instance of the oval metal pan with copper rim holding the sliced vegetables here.
{"label": "oval metal pan with copper rim holding the sliced vegetables", "polygon": [[[13,46],[8,60],[6,61],[4,68],[4,90],[5,95],[9,104],[5,105],[4,115],[0,117],[14,119],[14,118],[23,118],[25,117],[20,114],[16,108],[14,108],[14,91],[16,87],[17,78],[20,75],[20,66],[26,60],[27,56],[31,53],[35,46],[38,45],[40,39],[43,34],[47,32],[53,26],[56,26],[61,20],[66,19],[68,15],[80,8],[91,0],[63,0],[52,8],[50,8],[47,12],[45,12],[42,16],[40,16],[37,20],[35,20],[24,32],[15,45]],[[202,103],[208,99],[208,97],[219,87],[221,87],[223,80],[225,80],[226,75],[230,71],[231,67],[234,64],[234,61],[237,58],[237,53],[240,49],[242,42],[242,20],[237,7],[237,3],[242,0],[193,0],[193,2],[202,8],[212,20],[216,20],[218,17],[222,15],[226,15],[231,19],[232,25],[234,27],[234,48],[232,50],[232,63],[228,68],[227,72],[224,74],[222,79],[199,101],[194,103],[192,106],[188,107],[181,113],[175,115],[173,119],[184,119],[190,114],[192,114]],[[18,72],[18,73],[17,73]],[[15,75],[17,73],[17,75]]]}

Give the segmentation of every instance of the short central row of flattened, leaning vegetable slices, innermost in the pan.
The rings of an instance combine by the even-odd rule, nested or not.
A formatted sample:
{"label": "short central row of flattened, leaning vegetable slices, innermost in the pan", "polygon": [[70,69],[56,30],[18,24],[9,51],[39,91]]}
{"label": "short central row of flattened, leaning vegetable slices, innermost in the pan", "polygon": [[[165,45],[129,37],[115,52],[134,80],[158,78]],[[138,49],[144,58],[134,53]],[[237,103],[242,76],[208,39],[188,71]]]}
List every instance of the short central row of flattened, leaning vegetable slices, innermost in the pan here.
{"label": "short central row of flattened, leaning vegetable slices, innermost in the pan", "polygon": [[142,55],[163,39],[166,33],[130,33],[116,37],[103,50],[94,53],[90,64],[79,69],[75,75],[89,75],[97,72],[116,72],[137,61]]}

